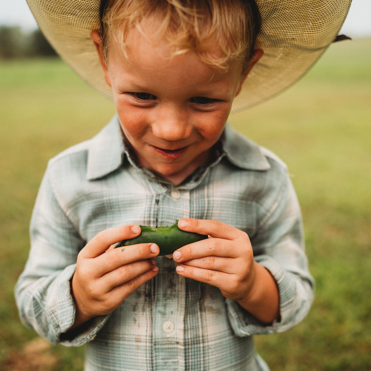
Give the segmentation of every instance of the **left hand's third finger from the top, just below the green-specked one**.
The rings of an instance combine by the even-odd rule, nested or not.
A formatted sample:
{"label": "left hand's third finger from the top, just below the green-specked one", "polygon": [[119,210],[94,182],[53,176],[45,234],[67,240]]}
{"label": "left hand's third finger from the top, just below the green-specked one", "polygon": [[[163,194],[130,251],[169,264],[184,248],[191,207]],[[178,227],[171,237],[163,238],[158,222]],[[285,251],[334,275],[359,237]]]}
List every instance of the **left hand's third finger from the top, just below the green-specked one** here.
{"label": "left hand's third finger from the top, just below the green-specked one", "polygon": [[102,276],[102,284],[108,292],[155,267],[158,269],[154,258],[122,265]]}

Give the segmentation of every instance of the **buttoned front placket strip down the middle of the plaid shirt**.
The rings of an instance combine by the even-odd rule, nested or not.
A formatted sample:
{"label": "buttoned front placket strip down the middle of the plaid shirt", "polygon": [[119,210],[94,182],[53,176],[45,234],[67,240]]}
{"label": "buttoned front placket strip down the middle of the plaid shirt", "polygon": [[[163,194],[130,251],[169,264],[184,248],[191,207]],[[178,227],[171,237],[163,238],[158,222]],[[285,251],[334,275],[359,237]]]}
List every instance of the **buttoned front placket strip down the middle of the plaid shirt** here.
{"label": "buttoned front placket strip down the middle of the plaid shirt", "polygon": [[[171,225],[175,220],[190,216],[190,192],[169,189],[158,204],[159,225]],[[184,338],[184,309],[186,307],[185,278],[175,272],[171,256],[156,258],[159,272],[154,279],[153,307],[153,369],[185,370],[186,339]]]}

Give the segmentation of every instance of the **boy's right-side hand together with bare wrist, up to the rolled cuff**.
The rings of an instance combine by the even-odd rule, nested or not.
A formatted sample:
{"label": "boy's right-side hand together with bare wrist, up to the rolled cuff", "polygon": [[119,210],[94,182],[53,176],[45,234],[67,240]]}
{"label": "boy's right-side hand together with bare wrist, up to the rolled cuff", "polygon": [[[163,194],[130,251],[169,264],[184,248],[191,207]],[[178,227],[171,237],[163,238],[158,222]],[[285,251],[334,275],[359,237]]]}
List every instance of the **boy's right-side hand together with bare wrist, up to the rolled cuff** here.
{"label": "boy's right-side hand together with bare wrist, up to the rolled cuff", "polygon": [[259,321],[279,318],[279,293],[268,270],[256,263],[249,236],[216,220],[181,219],[180,229],[212,238],[181,247],[173,253],[177,273],[220,289]]}

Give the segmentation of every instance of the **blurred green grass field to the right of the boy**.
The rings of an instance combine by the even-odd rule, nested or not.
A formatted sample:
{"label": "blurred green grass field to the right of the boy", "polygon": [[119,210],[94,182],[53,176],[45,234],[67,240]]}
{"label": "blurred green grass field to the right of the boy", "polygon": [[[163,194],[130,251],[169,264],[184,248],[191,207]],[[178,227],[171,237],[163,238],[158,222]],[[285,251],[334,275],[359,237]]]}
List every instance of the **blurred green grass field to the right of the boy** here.
{"label": "blurred green grass field to the right of the boy", "polygon": [[231,118],[289,166],[316,279],[308,317],[257,338],[272,370],[371,370],[371,40],[330,47],[299,83]]}

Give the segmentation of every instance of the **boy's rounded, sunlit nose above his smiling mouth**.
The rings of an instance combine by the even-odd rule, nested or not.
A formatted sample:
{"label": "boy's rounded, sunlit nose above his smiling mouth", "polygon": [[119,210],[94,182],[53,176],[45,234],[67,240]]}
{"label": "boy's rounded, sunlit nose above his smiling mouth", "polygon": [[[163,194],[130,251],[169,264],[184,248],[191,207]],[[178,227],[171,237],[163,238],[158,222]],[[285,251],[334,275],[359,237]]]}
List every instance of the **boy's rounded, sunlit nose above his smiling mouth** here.
{"label": "boy's rounded, sunlit nose above his smiling mouth", "polygon": [[183,109],[167,106],[158,110],[152,123],[152,132],[158,138],[177,141],[188,138],[192,126]]}

